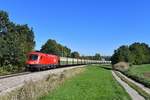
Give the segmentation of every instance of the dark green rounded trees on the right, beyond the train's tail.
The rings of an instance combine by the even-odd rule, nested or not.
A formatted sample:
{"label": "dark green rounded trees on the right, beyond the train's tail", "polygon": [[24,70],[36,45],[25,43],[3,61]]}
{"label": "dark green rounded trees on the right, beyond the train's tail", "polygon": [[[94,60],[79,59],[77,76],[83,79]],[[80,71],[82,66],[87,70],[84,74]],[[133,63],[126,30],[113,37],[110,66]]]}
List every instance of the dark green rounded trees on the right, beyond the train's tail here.
{"label": "dark green rounded trees on the right, beyond the train's tail", "polygon": [[148,64],[150,63],[150,47],[145,43],[133,43],[131,45],[122,45],[111,57],[112,64],[118,62],[128,62],[130,64]]}

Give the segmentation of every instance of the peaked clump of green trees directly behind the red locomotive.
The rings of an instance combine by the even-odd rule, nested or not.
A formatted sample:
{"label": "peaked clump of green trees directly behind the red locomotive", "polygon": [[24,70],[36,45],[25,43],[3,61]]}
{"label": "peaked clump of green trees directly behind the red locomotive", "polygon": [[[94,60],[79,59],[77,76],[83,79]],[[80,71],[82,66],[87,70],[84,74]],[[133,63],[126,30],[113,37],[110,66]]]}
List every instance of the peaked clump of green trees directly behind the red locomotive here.
{"label": "peaked clump of green trees directly behind the red locomotive", "polygon": [[54,54],[58,56],[70,57],[71,50],[66,46],[57,43],[55,40],[49,39],[42,47],[41,52]]}

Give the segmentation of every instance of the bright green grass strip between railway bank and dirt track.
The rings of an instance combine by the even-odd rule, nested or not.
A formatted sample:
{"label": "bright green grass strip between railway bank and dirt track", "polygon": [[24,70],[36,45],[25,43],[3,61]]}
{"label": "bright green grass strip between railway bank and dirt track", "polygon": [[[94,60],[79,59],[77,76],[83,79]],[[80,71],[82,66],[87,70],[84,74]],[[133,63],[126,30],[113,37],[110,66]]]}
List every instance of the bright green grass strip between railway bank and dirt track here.
{"label": "bright green grass strip between railway bank and dirt track", "polygon": [[111,71],[89,66],[40,100],[131,100]]}

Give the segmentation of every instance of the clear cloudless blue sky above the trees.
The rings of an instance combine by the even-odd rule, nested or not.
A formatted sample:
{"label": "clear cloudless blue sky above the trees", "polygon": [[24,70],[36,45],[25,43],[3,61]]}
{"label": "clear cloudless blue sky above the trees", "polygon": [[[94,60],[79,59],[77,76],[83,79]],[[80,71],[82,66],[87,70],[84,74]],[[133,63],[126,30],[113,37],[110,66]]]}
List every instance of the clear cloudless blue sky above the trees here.
{"label": "clear cloudless blue sky above the trees", "polygon": [[149,0],[0,0],[12,21],[33,27],[35,49],[51,38],[86,55],[150,44],[149,5]]}

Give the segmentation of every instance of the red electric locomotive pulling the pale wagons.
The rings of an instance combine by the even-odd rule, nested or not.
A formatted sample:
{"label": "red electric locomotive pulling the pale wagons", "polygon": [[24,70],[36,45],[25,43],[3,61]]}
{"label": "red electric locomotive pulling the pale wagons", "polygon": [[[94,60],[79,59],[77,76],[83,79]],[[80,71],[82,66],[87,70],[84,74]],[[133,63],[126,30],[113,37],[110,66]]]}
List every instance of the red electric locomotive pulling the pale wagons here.
{"label": "red electric locomotive pulling the pale wagons", "polygon": [[44,70],[56,68],[59,65],[59,61],[60,59],[56,55],[31,52],[28,54],[26,65],[29,70]]}

